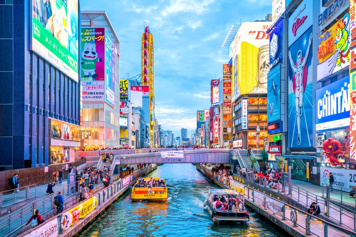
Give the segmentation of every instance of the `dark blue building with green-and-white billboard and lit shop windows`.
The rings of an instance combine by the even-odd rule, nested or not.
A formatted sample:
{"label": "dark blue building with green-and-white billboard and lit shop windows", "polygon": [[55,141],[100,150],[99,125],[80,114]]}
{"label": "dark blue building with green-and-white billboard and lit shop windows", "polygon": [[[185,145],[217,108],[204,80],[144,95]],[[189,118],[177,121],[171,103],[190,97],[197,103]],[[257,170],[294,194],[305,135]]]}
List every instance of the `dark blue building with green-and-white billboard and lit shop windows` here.
{"label": "dark blue building with green-and-white billboard and lit shop windows", "polygon": [[36,11],[43,1],[15,2],[0,5],[0,170],[73,162],[81,123],[78,1],[64,12],[67,27],[54,32]]}

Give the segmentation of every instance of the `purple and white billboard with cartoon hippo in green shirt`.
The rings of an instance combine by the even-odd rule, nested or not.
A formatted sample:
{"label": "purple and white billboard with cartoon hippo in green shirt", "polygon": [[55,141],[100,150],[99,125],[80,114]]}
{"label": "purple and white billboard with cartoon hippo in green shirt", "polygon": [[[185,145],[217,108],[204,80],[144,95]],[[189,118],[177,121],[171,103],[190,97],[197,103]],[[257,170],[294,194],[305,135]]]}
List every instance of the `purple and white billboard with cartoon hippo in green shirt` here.
{"label": "purple and white billboard with cartoon hippo in green shirt", "polygon": [[82,28],[83,101],[104,101],[105,28]]}

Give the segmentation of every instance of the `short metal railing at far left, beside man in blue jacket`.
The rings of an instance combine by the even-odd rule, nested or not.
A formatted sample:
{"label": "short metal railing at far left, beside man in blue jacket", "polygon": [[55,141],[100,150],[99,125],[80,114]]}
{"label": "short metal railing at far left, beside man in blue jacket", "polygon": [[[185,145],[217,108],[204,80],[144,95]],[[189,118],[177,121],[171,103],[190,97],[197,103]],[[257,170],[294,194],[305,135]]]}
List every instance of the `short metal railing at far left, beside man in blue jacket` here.
{"label": "short metal railing at far left, beside man in blue jacket", "polygon": [[37,184],[0,192],[0,208],[5,208],[37,196]]}

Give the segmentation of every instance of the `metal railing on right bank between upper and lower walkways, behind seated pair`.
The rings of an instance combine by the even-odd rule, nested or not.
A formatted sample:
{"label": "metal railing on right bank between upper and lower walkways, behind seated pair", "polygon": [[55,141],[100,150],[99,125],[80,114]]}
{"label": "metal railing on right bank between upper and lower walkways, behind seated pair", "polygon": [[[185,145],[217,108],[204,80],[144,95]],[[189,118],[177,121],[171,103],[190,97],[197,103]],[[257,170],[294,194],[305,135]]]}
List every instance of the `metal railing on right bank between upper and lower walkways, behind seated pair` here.
{"label": "metal railing on right bank between upper and lower walkways, behind seated pair", "polygon": [[[253,173],[252,175],[248,175],[249,173],[251,172],[248,171],[246,173],[246,176],[248,177],[247,180],[255,182],[256,174]],[[350,228],[350,230],[356,231],[356,212],[339,203],[339,200],[331,200],[316,195],[313,192],[298,187],[297,185],[274,178],[263,177],[263,179],[260,179],[260,177],[257,176],[257,182],[255,184],[287,195],[289,198],[298,201],[298,203],[307,208],[313,202],[317,202],[320,205],[321,213],[328,219],[340,225],[344,225],[345,228]],[[350,226],[346,225],[346,223],[353,224]]]}

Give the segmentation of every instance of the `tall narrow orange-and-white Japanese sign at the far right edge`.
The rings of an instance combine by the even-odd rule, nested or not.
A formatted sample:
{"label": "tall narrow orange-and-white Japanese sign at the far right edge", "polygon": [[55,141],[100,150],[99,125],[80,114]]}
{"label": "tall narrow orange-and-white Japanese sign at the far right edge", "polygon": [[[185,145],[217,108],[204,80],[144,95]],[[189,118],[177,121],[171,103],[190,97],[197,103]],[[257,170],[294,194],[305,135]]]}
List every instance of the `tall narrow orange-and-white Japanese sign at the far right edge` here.
{"label": "tall narrow orange-and-white Japanese sign at the far right edge", "polygon": [[350,160],[356,160],[356,2],[350,1]]}

